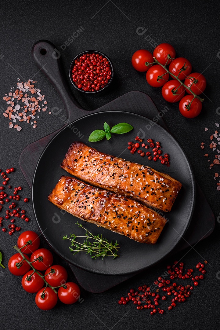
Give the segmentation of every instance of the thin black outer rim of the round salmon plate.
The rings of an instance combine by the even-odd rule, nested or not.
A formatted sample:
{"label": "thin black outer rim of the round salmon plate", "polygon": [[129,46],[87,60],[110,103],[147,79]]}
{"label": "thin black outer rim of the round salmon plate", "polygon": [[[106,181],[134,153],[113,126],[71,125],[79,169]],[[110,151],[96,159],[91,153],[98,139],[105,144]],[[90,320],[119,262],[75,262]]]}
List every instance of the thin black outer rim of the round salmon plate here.
{"label": "thin black outer rim of the round salmon plate", "polygon": [[[86,117],[89,117],[89,116],[93,116],[93,115],[97,115],[97,114],[107,114],[107,113],[121,113],[121,114],[128,114],[128,115],[134,115],[134,116],[138,116],[140,118],[143,118],[144,120],[150,120],[148,117],[145,117],[145,116],[141,116],[141,115],[138,115],[138,114],[134,114],[132,112],[125,112],[125,111],[103,111],[103,112],[96,112],[96,113],[93,113],[93,114],[88,114],[86,116],[83,116],[81,118],[78,118],[76,120],[73,120],[69,125],[65,126],[63,129],[61,129],[51,140],[50,142],[46,145],[46,147],[44,148],[44,150],[42,151],[41,153],[41,156],[38,160],[38,163],[37,163],[37,166],[36,166],[36,169],[35,169],[35,172],[34,172],[34,177],[33,177],[33,181],[32,181],[32,206],[33,206],[33,210],[34,210],[34,215],[35,215],[35,218],[36,218],[36,221],[37,221],[37,224],[40,228],[40,231],[42,233],[42,235],[44,236],[44,239],[47,241],[47,243],[49,244],[49,246],[61,257],[63,258],[65,261],[67,261],[68,263],[72,264],[73,266],[76,266],[80,269],[83,269],[87,272],[90,272],[90,273],[94,273],[94,274],[99,274],[99,275],[106,275],[106,276],[120,276],[120,275],[127,275],[127,274],[132,274],[132,273],[135,273],[135,272],[141,272],[155,264],[157,264],[158,262],[160,262],[161,260],[163,260],[171,251],[174,250],[174,248],[177,246],[177,244],[179,243],[180,239],[182,238],[182,236],[185,234],[186,230],[188,229],[189,227],[189,224],[191,222],[191,219],[192,219],[192,215],[193,215],[193,211],[194,211],[194,207],[195,207],[195,194],[196,194],[196,190],[195,190],[195,177],[194,177],[194,174],[193,174],[193,171],[192,171],[192,167],[191,167],[191,164],[189,162],[189,159],[184,151],[184,149],[182,148],[182,146],[180,145],[180,143],[177,141],[177,139],[170,133],[168,132],[164,127],[162,127],[161,125],[157,124],[157,123],[154,123],[154,125],[160,127],[161,130],[163,130],[168,136],[170,136],[178,145],[179,149],[181,149],[182,151],[182,154],[183,156],[185,157],[186,159],[186,162],[187,162],[187,165],[188,165],[188,168],[190,169],[190,174],[191,174],[191,181],[193,183],[192,185],[192,196],[193,196],[193,201],[191,203],[191,206],[190,206],[190,216],[189,216],[189,219],[188,219],[188,222],[186,223],[186,225],[184,226],[184,229],[183,229],[183,232],[181,234],[179,234],[179,239],[175,242],[174,246],[172,246],[172,248],[170,248],[170,250],[166,251],[166,253],[159,259],[155,260],[155,262],[152,262],[150,265],[147,265],[147,266],[142,266],[140,268],[138,268],[137,270],[132,270],[130,272],[126,272],[126,273],[118,273],[118,274],[107,274],[105,272],[98,272],[98,271],[94,271],[94,270],[91,270],[89,268],[86,268],[86,267],[83,267],[82,265],[78,265],[77,263],[74,263],[74,260],[70,260],[70,258],[68,258],[67,256],[63,255],[61,252],[59,252],[59,250],[56,248],[56,246],[54,245],[54,243],[49,240],[48,238],[46,238],[46,236],[44,235],[43,231],[41,230],[41,224],[40,222],[38,221],[38,217],[37,217],[37,214],[36,214],[36,210],[35,210],[35,206],[34,206],[34,186],[35,186],[35,177],[36,177],[36,172],[37,172],[37,169],[38,169],[38,165],[39,163],[41,162],[41,158],[44,154],[44,152],[46,151],[46,149],[50,146],[51,143],[53,143],[53,140],[57,138],[57,136],[59,134],[61,134],[64,130],[68,129],[68,127],[70,125],[72,125],[73,123],[76,123],[77,121],[79,120],[82,120],[83,118],[86,118]],[[69,175],[69,173],[67,174]],[[67,252],[68,249],[67,249]],[[71,254],[70,254],[71,256]]]}

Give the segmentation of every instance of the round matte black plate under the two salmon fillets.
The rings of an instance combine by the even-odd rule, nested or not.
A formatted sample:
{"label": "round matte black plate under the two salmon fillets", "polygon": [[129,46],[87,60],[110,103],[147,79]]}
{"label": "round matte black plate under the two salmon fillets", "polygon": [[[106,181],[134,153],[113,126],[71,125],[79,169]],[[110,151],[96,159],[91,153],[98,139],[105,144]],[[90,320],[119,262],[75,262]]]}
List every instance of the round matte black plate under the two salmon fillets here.
{"label": "round matte black plate under the two salmon fillets", "polygon": [[[88,137],[95,129],[102,129],[103,123],[113,126],[119,122],[127,122],[134,129],[127,134],[113,134],[112,138],[90,143]],[[148,157],[141,157],[137,152],[133,155],[127,149],[127,142],[134,141],[138,131],[148,138],[159,141],[164,152],[170,155],[170,167],[162,165],[160,161],[149,161]],[[144,132],[144,133],[143,133]],[[103,234],[108,240],[118,240],[120,257],[113,260],[105,257],[103,260],[92,259],[89,254],[79,252],[73,255],[69,251],[69,240],[62,240],[63,235],[69,233],[82,234],[82,229],[75,223],[83,222],[69,213],[65,213],[47,200],[61,175],[69,175],[61,169],[60,164],[73,141],[81,141],[99,151],[116,157],[149,165],[160,172],[165,172],[182,183],[180,193],[174,203],[172,211],[164,213],[169,220],[157,243],[147,245],[130,240],[113,233],[110,230],[84,222],[84,226],[94,234]],[[49,245],[65,260],[86,271],[103,275],[122,275],[134,273],[157,263],[164,258],[179,242],[187,229],[195,201],[195,184],[189,161],[177,140],[164,128],[154,124],[146,117],[132,113],[112,111],[91,114],[74,121],[60,131],[44,149],[33,179],[33,207],[35,216],[43,236]]]}

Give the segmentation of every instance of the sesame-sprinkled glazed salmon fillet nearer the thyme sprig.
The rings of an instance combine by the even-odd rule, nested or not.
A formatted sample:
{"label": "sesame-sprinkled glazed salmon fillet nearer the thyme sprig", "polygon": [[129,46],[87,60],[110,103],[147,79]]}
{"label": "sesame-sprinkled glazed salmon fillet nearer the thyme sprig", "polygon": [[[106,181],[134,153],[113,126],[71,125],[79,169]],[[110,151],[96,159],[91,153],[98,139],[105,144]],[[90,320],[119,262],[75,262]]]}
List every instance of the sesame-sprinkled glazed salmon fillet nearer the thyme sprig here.
{"label": "sesame-sprinkled glazed salmon fillet nearer the thyme sprig", "polygon": [[138,202],[62,176],[48,196],[60,209],[141,243],[155,244],[166,220]]}

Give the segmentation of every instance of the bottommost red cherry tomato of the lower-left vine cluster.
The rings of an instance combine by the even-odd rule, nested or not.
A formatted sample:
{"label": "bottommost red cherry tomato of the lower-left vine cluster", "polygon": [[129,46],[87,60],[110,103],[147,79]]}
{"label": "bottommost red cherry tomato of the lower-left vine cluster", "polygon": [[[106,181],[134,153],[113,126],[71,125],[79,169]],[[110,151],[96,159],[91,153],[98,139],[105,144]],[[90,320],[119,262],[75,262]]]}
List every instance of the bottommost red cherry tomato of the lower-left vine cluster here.
{"label": "bottommost red cherry tomato of the lower-left vine cluster", "polygon": [[[49,311],[52,308],[54,308],[57,304],[57,293],[55,293],[49,286],[44,290],[45,288],[42,288],[35,297],[36,305],[43,311]],[[43,294],[44,290],[44,298],[41,298],[41,295]]]}

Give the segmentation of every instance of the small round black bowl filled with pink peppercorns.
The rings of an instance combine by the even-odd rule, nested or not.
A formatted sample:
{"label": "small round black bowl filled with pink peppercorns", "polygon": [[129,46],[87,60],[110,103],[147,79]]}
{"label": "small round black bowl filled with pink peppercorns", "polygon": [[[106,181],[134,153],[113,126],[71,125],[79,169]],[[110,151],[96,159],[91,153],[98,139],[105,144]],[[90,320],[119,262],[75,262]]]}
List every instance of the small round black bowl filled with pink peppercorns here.
{"label": "small round black bowl filled with pink peppercorns", "polygon": [[113,80],[114,69],[111,60],[96,50],[84,51],[72,60],[69,79],[73,86],[87,94],[100,93]]}

